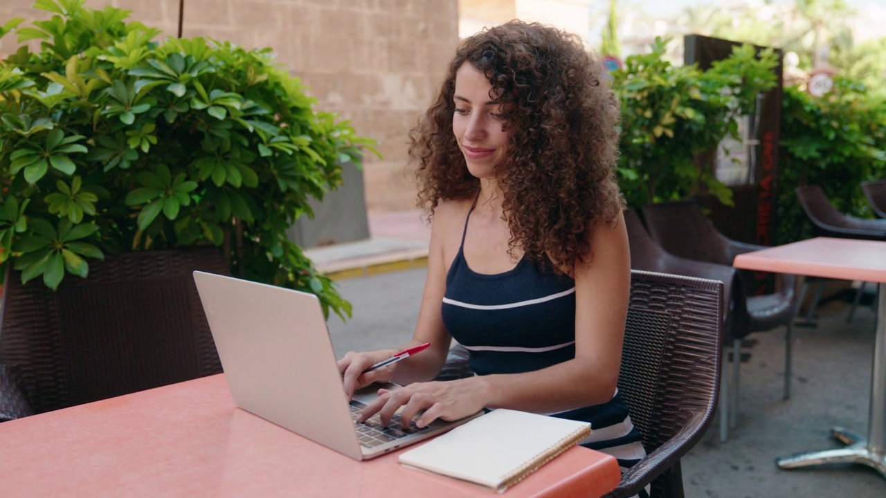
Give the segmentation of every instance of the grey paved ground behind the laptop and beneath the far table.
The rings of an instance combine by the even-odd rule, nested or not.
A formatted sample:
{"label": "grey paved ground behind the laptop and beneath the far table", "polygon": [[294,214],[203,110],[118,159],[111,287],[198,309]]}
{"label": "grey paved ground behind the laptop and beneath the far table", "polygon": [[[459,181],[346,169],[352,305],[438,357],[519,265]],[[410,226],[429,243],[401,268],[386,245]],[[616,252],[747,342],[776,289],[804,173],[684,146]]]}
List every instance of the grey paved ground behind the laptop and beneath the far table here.
{"label": "grey paved ground behind the laptop and beneath the far table", "polygon": [[[354,305],[354,317],[330,318],[336,352],[399,346],[411,337],[424,284],[424,269],[409,269],[339,281]],[[780,471],[773,460],[807,449],[837,447],[829,429],[842,425],[867,433],[874,346],[874,313],[821,307],[816,328],[795,329],[793,396],[781,400],[784,333],[758,333],[750,360],[742,363],[737,426],[719,443],[712,426],[683,460],[686,494],[707,498],[883,497],[886,480],[860,466]],[[716,423],[716,421],[715,421]]]}

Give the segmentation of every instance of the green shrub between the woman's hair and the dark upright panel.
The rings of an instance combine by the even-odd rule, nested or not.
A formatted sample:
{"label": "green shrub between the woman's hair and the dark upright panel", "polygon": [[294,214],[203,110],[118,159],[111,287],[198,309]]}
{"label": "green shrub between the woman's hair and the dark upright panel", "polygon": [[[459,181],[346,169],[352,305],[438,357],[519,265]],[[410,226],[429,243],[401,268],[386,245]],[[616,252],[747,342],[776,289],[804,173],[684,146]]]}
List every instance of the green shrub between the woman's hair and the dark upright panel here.
{"label": "green shrub between the woman's hair and the dark upright panel", "polygon": [[626,58],[613,74],[622,106],[618,182],[633,207],[702,193],[732,206],[732,191],[697,158],[737,138],[737,118],[776,84],[775,54],[743,45],[702,71],[673,66],[666,45],[657,38],[649,54]]}

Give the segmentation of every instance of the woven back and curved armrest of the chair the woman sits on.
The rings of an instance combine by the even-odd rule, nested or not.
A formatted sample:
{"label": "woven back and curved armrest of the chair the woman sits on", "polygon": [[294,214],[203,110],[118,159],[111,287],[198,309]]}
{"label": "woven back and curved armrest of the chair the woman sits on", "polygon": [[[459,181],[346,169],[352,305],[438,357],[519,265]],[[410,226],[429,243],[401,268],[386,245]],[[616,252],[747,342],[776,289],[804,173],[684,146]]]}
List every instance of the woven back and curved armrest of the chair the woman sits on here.
{"label": "woven back and curved armrest of the chair the woman sits on", "polygon": [[680,457],[717,407],[723,307],[721,282],[631,271],[618,390],[649,455],[612,496],[637,493],[650,475],[653,496],[681,494]]}

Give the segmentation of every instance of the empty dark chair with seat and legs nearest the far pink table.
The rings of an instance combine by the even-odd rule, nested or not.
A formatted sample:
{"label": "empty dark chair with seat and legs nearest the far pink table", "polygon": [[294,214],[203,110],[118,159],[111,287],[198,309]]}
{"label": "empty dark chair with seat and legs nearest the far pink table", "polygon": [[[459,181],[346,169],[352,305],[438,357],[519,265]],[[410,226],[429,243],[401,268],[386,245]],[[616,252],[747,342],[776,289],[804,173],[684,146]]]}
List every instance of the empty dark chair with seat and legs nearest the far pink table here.
{"label": "empty dark chair with seat and legs nearest the far pink table", "polygon": [[[643,206],[643,216],[649,234],[665,251],[690,260],[732,266],[736,255],[765,249],[762,245],[745,244],[720,233],[695,201],[683,200]],[[777,292],[750,295],[752,292],[748,291],[746,274],[739,271],[737,275],[741,284],[733,287],[731,304],[734,307],[733,315],[740,319],[727,326],[733,349],[732,372],[726,379],[732,386],[728,388],[730,393],[727,401],[732,407],[729,412],[730,425],[735,423],[735,408],[738,405],[742,338],[752,332],[771,331],[780,325],[785,326],[783,397],[786,400],[790,397],[791,343],[797,311],[796,276],[781,275],[780,290]],[[745,296],[743,307],[740,296]],[[746,317],[743,316],[745,313]],[[726,399],[727,393],[723,393],[722,397]]]}

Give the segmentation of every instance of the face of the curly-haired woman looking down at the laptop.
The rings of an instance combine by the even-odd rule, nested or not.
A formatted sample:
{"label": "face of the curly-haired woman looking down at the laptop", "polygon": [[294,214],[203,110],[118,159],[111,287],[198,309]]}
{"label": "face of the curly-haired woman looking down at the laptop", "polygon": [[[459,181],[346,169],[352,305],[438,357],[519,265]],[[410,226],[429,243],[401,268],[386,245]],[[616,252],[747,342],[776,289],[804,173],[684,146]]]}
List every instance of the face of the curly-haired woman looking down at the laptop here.
{"label": "face of the curly-haired woman looking down at the laptop", "polygon": [[494,178],[508,154],[510,130],[503,131],[501,104],[489,97],[486,75],[468,63],[455,73],[452,130],[471,175]]}

